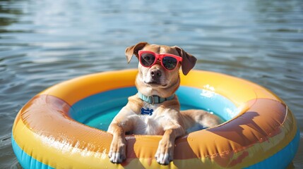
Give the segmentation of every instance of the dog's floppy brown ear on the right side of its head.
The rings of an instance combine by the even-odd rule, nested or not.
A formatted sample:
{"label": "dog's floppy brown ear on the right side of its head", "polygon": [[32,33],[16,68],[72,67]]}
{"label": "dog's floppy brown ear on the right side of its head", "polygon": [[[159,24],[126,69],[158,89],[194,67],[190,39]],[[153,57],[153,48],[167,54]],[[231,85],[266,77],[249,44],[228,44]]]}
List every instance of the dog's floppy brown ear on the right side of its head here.
{"label": "dog's floppy brown ear on the right side of its head", "polygon": [[195,56],[192,56],[191,54],[187,53],[179,46],[174,46],[174,49],[176,49],[179,53],[179,56],[182,57],[182,72],[184,75],[187,75],[189,71],[196,65],[197,59],[195,58]]}

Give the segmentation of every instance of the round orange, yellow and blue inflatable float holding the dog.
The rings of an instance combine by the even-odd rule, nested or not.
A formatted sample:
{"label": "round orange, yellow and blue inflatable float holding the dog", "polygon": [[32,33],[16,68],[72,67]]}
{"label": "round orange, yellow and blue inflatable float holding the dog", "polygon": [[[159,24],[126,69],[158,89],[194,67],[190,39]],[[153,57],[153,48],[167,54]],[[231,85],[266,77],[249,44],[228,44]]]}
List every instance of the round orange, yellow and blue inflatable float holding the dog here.
{"label": "round orange, yellow and blue inflatable float holding the dog", "polygon": [[161,136],[128,135],[127,159],[107,156],[105,132],[127,97],[136,94],[137,70],[85,75],[61,82],[28,101],[16,116],[12,145],[23,168],[285,168],[299,145],[299,129],[286,104],[257,84],[220,73],[181,75],[182,109],[220,115],[218,127],[176,140],[174,161],[154,158]]}

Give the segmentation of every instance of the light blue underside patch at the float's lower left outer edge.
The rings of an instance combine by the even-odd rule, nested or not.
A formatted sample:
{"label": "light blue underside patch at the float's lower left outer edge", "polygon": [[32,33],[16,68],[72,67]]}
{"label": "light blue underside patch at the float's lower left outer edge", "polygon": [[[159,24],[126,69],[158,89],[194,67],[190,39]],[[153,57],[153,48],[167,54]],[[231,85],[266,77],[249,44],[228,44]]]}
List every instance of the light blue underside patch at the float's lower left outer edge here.
{"label": "light blue underside patch at the float's lower left outer edge", "polygon": [[11,145],[13,146],[13,152],[16,154],[16,157],[23,168],[52,169],[49,165],[41,163],[32,156],[26,154],[23,149],[18,146],[13,135],[11,136]]}

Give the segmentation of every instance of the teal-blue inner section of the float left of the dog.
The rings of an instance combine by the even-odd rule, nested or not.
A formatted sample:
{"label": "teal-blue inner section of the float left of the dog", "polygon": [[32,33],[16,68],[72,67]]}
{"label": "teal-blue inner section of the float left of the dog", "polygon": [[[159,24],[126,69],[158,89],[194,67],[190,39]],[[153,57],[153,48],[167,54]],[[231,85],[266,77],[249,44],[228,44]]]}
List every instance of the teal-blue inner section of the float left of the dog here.
{"label": "teal-blue inner section of the float left of the dog", "polygon": [[88,96],[71,106],[70,116],[80,123],[107,131],[114,116],[127,104],[128,97],[136,92],[136,87],[126,87]]}

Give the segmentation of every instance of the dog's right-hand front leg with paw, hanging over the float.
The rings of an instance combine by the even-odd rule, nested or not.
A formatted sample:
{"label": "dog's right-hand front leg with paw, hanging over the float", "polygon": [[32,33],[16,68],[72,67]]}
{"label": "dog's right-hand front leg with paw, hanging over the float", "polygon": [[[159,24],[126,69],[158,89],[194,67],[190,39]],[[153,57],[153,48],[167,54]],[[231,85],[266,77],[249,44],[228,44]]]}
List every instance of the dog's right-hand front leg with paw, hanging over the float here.
{"label": "dog's right-hand front leg with paw, hanging over the float", "polygon": [[174,140],[184,134],[183,128],[176,127],[165,130],[162,139],[159,142],[155,158],[158,163],[168,165],[174,158]]}

